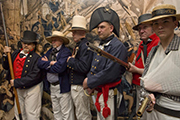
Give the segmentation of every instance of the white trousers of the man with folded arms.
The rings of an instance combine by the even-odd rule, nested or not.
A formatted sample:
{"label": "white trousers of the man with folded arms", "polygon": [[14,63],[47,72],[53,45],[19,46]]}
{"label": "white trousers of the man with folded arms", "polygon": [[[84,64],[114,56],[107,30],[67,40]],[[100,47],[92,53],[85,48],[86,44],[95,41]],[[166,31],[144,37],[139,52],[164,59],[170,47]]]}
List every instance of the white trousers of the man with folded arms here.
{"label": "white trousers of the man with folded arms", "polygon": [[74,107],[71,93],[61,93],[59,85],[51,85],[51,100],[54,120],[74,120]]}

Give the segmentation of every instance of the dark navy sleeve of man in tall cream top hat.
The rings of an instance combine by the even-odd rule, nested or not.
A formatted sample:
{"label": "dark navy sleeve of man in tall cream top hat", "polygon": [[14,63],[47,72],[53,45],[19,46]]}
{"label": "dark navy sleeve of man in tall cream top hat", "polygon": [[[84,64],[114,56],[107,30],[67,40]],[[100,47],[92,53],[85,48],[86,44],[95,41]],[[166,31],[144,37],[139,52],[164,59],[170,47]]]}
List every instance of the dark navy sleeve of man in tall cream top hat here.
{"label": "dark navy sleeve of man in tall cream top hat", "polygon": [[68,61],[68,66],[74,71],[78,71],[80,73],[88,73],[91,67],[93,53],[87,50],[87,47],[85,45],[81,47],[79,52],[79,59],[70,58]]}

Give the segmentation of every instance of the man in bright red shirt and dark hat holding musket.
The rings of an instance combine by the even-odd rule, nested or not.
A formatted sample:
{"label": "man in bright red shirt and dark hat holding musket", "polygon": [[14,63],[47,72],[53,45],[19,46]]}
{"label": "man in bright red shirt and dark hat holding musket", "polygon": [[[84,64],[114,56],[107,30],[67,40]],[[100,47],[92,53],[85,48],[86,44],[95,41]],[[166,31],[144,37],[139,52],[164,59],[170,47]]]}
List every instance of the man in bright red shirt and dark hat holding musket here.
{"label": "man in bright red shirt and dark hat holding musket", "polygon": [[[159,38],[154,33],[151,23],[143,23],[144,21],[151,18],[151,14],[143,14],[138,18],[138,24],[133,27],[134,30],[139,32],[140,39],[142,40],[139,44],[138,51],[136,54],[135,64],[129,62],[130,68],[129,72],[133,73],[132,83],[136,87],[136,111],[139,107],[140,102],[140,79],[143,71],[144,65],[146,63],[147,56],[151,51],[152,47],[158,45]],[[147,120],[148,118],[144,114],[141,119]],[[152,120],[152,118],[150,118]]]}

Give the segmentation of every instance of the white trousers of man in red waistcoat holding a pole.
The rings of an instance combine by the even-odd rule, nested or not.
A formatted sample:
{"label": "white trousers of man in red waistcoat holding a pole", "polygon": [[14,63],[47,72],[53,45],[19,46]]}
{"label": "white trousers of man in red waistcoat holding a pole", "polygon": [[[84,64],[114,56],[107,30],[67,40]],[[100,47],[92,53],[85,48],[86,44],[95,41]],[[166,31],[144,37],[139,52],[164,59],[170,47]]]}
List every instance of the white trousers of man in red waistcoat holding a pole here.
{"label": "white trousers of man in red waistcoat holding a pole", "polygon": [[[18,99],[23,120],[39,120],[41,112],[41,100],[43,83],[39,83],[28,89],[17,89]],[[15,117],[19,120],[19,114],[15,100]]]}

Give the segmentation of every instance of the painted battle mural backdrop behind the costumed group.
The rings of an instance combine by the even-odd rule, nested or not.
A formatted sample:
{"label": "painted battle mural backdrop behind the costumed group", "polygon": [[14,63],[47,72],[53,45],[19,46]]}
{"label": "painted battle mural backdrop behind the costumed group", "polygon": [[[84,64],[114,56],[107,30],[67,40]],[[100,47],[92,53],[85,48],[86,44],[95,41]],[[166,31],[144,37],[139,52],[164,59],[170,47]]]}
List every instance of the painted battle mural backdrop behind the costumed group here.
{"label": "painted battle mural backdrop behind the costumed group", "polygon": [[[58,30],[63,32],[71,39],[67,46],[73,48],[74,42],[72,35],[69,33],[72,18],[74,15],[83,15],[88,22],[92,12],[98,7],[110,7],[115,10],[120,17],[120,37],[119,39],[127,46],[128,51],[135,52],[140,42],[137,32],[132,27],[137,24],[137,18],[141,14],[150,13],[152,8],[158,4],[169,3],[177,8],[180,13],[179,0],[0,0],[3,5],[3,13],[6,22],[6,30],[9,45],[13,50],[20,49],[19,40],[25,30],[32,30],[39,34],[39,46],[46,49],[50,44],[46,41],[46,37],[52,34],[52,31]],[[179,34],[179,28],[175,29]],[[98,39],[96,30],[88,33],[90,42]],[[0,17],[0,58],[2,58],[3,48],[5,46],[4,29],[2,26],[2,18]],[[43,52],[43,49],[37,51]],[[0,119],[13,119],[13,95],[11,86],[5,80],[6,71],[3,70],[0,63]],[[127,79],[128,80],[128,79]],[[126,89],[124,95],[126,97],[127,110],[119,116],[128,116],[133,110],[133,92],[131,88],[131,80],[125,82]],[[93,106],[92,106],[93,113]],[[95,114],[93,114],[95,115]],[[51,100],[47,91],[43,95],[42,119],[53,119]]]}

